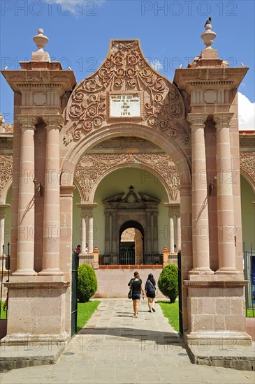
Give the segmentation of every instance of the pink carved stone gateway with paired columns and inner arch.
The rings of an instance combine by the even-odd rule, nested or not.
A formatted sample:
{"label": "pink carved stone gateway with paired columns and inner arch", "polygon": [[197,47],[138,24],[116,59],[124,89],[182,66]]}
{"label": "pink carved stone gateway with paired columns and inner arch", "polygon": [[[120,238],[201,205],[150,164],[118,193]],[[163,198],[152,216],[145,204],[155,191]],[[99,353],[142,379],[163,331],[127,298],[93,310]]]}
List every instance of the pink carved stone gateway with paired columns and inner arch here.
{"label": "pink carved stone gateway with paired columns and inner arch", "polygon": [[[37,43],[48,40],[42,35],[39,30]],[[57,344],[71,338],[74,184],[82,246],[89,228],[89,252],[94,250],[94,267],[100,267],[93,244],[94,209],[99,206],[94,195],[112,170],[130,167],[156,173],[168,201],[153,200],[150,191],[140,198],[130,191],[127,200],[124,191],[117,198],[102,198],[106,214],[115,216],[105,226],[115,234],[109,249],[117,251],[116,234],[125,229],[131,213],[131,221],[138,223],[134,228],[150,233],[145,247],[159,251],[157,207],[166,203],[170,228],[173,216],[182,227],[185,343],[228,344],[231,337],[251,344],[245,332],[240,179],[227,182],[231,169],[239,175],[240,158],[241,171],[254,182],[252,148],[247,146],[240,156],[238,147],[237,89],[248,68],[228,66],[208,47],[189,68],[178,68],[173,82],[147,63],[138,40],[112,40],[101,68],[80,84],[73,71],[51,62],[41,47],[31,61],[20,63],[22,71],[2,71],[15,89],[13,169],[19,170],[13,177],[6,283],[10,312],[2,343],[44,343],[50,335]],[[0,133],[1,139],[8,135]],[[10,182],[8,151],[6,147],[1,157],[1,189]],[[35,171],[41,180],[24,176]],[[235,237],[229,236],[229,227]],[[36,238],[34,228],[41,230]],[[36,293],[32,300],[31,290]]]}

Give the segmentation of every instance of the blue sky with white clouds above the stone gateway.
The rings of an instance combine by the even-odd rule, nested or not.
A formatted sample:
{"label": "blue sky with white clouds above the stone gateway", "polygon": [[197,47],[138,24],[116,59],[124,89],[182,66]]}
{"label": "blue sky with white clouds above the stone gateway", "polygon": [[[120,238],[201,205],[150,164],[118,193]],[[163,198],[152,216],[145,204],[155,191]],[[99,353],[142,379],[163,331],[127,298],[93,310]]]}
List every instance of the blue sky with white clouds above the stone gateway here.
{"label": "blue sky with white clouds above the stone gateway", "polygon": [[[205,47],[207,17],[217,38],[212,47],[230,66],[249,66],[240,85],[243,124],[254,124],[254,1],[1,0],[0,55],[3,69],[19,69],[36,51],[33,37],[43,28],[52,61],[71,67],[77,82],[103,62],[111,38],[139,38],[145,57],[173,80]],[[0,112],[13,121],[13,92],[1,75]],[[247,121],[248,119],[248,121]],[[245,125],[244,125],[245,127]],[[243,128],[244,129],[244,128]],[[254,128],[253,128],[254,129]]]}

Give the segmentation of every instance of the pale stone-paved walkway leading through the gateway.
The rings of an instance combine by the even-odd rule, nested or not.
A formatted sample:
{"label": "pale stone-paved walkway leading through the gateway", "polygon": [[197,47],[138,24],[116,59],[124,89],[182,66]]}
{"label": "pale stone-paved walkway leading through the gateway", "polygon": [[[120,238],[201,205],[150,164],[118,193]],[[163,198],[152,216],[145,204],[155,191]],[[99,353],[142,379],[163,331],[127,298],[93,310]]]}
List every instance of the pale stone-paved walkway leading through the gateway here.
{"label": "pale stone-paved walkway leading through the gateway", "polygon": [[191,364],[158,304],[156,313],[148,313],[142,301],[138,318],[131,306],[131,300],[101,300],[57,364],[3,372],[1,384],[254,384],[254,371]]}

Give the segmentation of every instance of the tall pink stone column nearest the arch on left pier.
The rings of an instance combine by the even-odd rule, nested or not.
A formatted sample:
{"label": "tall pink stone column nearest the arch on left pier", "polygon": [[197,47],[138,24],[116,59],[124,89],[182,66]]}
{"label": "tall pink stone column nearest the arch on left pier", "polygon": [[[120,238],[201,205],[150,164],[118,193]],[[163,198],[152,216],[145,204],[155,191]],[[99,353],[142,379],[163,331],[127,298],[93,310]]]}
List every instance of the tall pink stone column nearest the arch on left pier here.
{"label": "tall pink stone column nearest the arch on left pier", "polygon": [[60,187],[59,129],[61,115],[43,115],[46,124],[45,184],[43,211],[43,270],[41,275],[61,275],[59,269]]}

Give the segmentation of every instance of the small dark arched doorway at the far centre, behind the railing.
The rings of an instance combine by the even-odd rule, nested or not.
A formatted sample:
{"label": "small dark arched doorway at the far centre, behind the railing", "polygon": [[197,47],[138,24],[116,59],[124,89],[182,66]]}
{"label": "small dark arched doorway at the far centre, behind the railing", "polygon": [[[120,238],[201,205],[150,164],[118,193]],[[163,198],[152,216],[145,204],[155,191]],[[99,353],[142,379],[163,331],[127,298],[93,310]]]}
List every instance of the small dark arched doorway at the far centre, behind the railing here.
{"label": "small dark arched doorway at the far centre, behind the railing", "polygon": [[119,264],[143,264],[144,229],[137,221],[126,221],[119,228]]}

